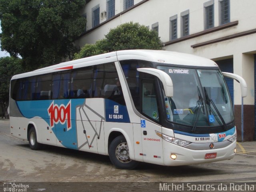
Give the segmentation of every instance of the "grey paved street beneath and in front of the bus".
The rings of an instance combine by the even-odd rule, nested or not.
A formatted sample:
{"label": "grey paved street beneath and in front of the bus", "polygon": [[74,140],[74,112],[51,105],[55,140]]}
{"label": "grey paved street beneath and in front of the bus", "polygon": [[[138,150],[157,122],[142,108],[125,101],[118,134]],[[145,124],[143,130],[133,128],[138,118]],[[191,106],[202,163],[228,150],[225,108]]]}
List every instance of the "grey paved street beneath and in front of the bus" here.
{"label": "grey paved street beneath and in front of the bus", "polygon": [[99,186],[91,182],[255,182],[255,159],[256,142],[244,142],[232,160],[178,167],[141,163],[136,170],[118,170],[108,156],[53,146],[30,150],[28,141],[10,135],[9,121],[0,120],[0,182],[90,182],[91,187]]}

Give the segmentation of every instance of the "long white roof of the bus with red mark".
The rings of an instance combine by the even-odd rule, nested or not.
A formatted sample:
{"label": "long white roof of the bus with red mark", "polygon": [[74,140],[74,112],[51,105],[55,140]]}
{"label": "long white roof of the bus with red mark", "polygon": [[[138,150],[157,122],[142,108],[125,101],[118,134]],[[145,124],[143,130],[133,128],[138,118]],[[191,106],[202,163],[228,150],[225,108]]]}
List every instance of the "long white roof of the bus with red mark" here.
{"label": "long white roof of the bus with red mark", "polygon": [[32,72],[27,72],[15,75],[12,79],[22,78],[26,76],[34,76],[39,74],[46,74],[56,70],[67,70],[72,68],[80,68],[83,66],[91,66],[95,64],[102,64],[107,62],[115,62],[117,60],[146,60],[151,62],[160,62],[162,64],[176,64],[184,66],[198,66],[198,67],[216,67],[218,66],[214,61],[195,56],[192,54],[185,54],[179,52],[171,52],[164,50],[121,50],[87,58],[62,62],[60,64],[40,68]]}

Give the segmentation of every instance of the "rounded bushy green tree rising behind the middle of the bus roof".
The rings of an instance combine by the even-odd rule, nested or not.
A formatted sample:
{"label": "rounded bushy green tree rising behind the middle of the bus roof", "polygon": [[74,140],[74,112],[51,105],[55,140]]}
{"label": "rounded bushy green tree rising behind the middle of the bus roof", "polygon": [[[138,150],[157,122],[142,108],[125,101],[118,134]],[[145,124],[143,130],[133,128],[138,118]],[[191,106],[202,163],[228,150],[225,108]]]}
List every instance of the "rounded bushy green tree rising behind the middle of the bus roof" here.
{"label": "rounded bushy green tree rising behind the middle of the bus roof", "polygon": [[162,43],[154,30],[138,23],[125,23],[111,29],[105,38],[96,44],[86,44],[74,59],[93,56],[100,53],[128,49],[153,49],[160,50]]}

